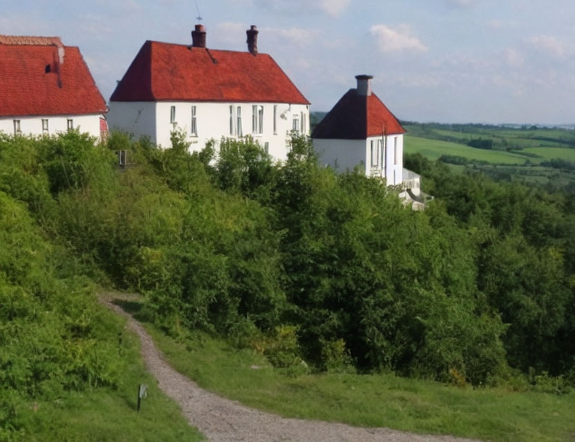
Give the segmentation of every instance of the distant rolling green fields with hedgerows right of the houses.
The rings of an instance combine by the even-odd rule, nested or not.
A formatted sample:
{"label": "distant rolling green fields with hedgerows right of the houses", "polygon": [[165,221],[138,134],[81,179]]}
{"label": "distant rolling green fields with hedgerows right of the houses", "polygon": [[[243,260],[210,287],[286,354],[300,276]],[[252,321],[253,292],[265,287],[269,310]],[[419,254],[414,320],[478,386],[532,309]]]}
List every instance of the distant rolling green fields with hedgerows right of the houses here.
{"label": "distant rolling green fields with hedgerows right of the houses", "polygon": [[[572,130],[473,124],[413,123],[405,127],[408,131],[404,138],[405,153],[420,153],[434,161],[442,155],[461,157],[468,164],[453,158],[442,159],[458,173],[472,167],[494,180],[518,181],[556,190],[571,189],[575,184],[575,132]],[[493,148],[467,146],[471,140],[491,140]],[[551,160],[564,163],[555,162],[554,167],[543,164]]]}

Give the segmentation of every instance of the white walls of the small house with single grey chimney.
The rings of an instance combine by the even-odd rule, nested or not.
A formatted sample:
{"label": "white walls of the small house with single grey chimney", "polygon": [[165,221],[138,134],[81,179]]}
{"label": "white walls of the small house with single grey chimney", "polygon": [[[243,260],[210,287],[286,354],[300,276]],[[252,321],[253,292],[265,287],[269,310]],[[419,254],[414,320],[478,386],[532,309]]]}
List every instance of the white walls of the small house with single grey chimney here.
{"label": "white walls of the small house with single grey chimney", "polygon": [[386,179],[388,185],[402,184],[404,136],[368,137],[366,140],[327,140],[314,138],[314,149],[322,164],[338,172],[357,166],[368,176]]}

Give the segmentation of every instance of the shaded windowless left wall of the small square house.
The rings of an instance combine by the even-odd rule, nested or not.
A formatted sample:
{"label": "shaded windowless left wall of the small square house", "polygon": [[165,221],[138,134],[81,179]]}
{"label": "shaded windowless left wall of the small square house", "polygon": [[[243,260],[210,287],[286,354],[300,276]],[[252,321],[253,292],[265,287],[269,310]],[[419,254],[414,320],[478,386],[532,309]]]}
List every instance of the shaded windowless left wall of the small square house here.
{"label": "shaded windowless left wall of the small square house", "polygon": [[365,140],[325,140],[315,138],[314,150],[320,164],[330,166],[337,172],[352,171],[355,166],[366,166]]}

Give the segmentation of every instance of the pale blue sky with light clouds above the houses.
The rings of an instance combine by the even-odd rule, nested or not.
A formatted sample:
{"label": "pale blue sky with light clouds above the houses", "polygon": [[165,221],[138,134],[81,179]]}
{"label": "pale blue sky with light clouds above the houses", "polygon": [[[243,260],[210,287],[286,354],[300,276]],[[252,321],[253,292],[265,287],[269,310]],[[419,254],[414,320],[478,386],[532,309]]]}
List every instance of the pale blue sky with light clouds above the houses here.
{"label": "pale blue sky with light clouds above the houses", "polygon": [[[444,123],[575,123],[573,0],[19,0],[0,34],[57,35],[79,46],[102,95],[144,41],[272,55],[312,111],[329,111],[355,75],[399,119]],[[197,4],[197,7],[196,7]],[[199,10],[199,12],[198,12]],[[202,17],[201,21],[198,17]]]}

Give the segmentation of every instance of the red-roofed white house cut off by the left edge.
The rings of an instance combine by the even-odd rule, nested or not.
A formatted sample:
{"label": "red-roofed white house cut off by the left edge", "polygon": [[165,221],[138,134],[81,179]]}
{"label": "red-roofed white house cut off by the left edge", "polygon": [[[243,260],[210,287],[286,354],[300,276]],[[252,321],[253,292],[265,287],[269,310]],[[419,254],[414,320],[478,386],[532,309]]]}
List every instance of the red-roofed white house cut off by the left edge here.
{"label": "red-roofed white house cut off by the left edge", "polygon": [[107,133],[106,102],[79,48],[59,37],[0,35],[0,132]]}

